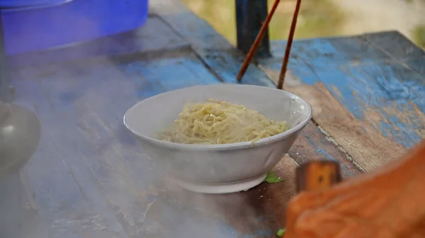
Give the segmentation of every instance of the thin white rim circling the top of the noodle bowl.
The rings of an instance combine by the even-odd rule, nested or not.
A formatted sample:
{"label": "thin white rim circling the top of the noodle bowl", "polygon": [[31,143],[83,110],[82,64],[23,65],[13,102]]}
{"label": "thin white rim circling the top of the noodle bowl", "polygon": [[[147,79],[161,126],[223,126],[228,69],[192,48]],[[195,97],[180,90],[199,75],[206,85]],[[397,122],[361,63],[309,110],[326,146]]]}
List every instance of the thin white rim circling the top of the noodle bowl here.
{"label": "thin white rim circling the top of the noodle bowl", "polygon": [[[278,140],[282,140],[285,137],[289,137],[290,135],[293,135],[295,132],[298,132],[300,130],[302,130],[302,128],[305,127],[305,125],[307,125],[307,123],[310,122],[311,118],[312,118],[312,107],[310,106],[309,103],[307,103],[307,101],[305,101],[304,99],[302,99],[300,96],[297,96],[295,94],[292,94],[288,91],[285,90],[281,90],[281,89],[275,89],[275,88],[271,88],[268,86],[256,86],[256,85],[249,85],[249,84],[211,84],[211,85],[196,85],[196,86],[188,86],[182,89],[176,89],[176,90],[171,90],[171,91],[166,91],[162,94],[167,94],[167,93],[171,93],[172,91],[180,91],[180,90],[187,90],[190,88],[201,88],[201,87],[208,87],[208,86],[215,86],[215,87],[220,87],[220,86],[234,86],[234,87],[262,87],[262,88],[266,88],[269,90],[275,90],[275,91],[283,91],[284,94],[288,94],[291,98],[297,98],[297,100],[302,101],[302,103],[304,103],[304,105],[307,107],[307,117],[302,120],[300,123],[298,123],[297,125],[295,125],[295,127],[290,128],[289,130],[285,130],[282,133],[279,133],[277,135],[273,135],[271,137],[266,137],[263,138],[261,140],[258,140],[256,142],[254,142],[254,145],[252,146],[252,148],[254,147],[258,147],[260,145],[268,145],[272,142],[276,142]],[[160,145],[162,147],[166,147],[169,149],[179,149],[179,150],[190,150],[190,151],[211,151],[211,150],[229,150],[229,149],[240,149],[240,148],[246,148],[246,147],[251,147],[251,141],[249,142],[237,142],[237,143],[230,143],[230,144],[220,144],[220,145],[198,145],[198,144],[182,144],[182,143],[176,143],[176,142],[166,142],[163,140],[157,140],[154,139],[152,137],[147,137],[145,135],[141,135],[138,132],[135,132],[134,130],[132,130],[128,123],[126,123],[126,118],[128,117],[128,113],[130,111],[132,111],[133,108],[135,108],[137,105],[139,105],[139,103],[142,103],[143,101],[149,100],[151,98],[155,98],[157,96],[161,96],[162,94],[157,94],[155,96],[151,96],[149,98],[145,98],[142,101],[139,101],[137,103],[135,103],[135,105],[133,105],[132,107],[128,108],[128,110],[125,112],[124,117],[123,117],[123,123],[125,125],[125,127],[132,133],[132,135],[134,135],[135,137],[138,137],[142,140],[145,140],[151,144],[154,145]]]}

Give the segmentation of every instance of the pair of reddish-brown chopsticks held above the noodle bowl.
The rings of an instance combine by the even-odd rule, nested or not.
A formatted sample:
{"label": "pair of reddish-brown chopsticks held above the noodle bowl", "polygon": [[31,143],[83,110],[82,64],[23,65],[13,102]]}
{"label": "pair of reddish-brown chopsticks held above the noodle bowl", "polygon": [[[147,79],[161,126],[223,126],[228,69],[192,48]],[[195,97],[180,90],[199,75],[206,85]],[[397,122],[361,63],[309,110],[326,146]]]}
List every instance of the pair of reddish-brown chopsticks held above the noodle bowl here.
{"label": "pair of reddish-brown chopsticks held above the noodle bowl", "polygon": [[[266,21],[264,21],[263,26],[261,26],[261,29],[260,29],[258,35],[256,36],[254,43],[252,44],[251,48],[249,49],[249,52],[245,57],[244,63],[242,64],[242,67],[239,70],[239,73],[237,74],[237,81],[241,81],[242,77],[244,77],[246,69],[248,68],[249,63],[251,63],[252,57],[254,57],[254,54],[255,54],[256,50],[258,49],[261,40],[263,39],[264,33],[266,32],[268,24],[270,23],[271,18],[273,17],[273,14],[275,13],[279,2],[280,2],[280,0],[276,0],[274,2],[270,13],[268,13],[268,15],[266,17]],[[300,12],[300,5],[301,5],[301,0],[297,0],[297,5],[295,6],[295,11],[294,11],[294,15],[293,15],[293,21],[292,21],[291,26],[290,26],[288,43],[286,44],[285,57],[283,57],[283,64],[282,64],[282,68],[280,69],[278,89],[283,89],[283,83],[285,82],[285,74],[286,74],[286,68],[288,67],[290,47],[292,46],[292,42],[293,42],[293,38],[294,38],[295,26],[297,26],[297,18],[298,18],[298,13]]]}

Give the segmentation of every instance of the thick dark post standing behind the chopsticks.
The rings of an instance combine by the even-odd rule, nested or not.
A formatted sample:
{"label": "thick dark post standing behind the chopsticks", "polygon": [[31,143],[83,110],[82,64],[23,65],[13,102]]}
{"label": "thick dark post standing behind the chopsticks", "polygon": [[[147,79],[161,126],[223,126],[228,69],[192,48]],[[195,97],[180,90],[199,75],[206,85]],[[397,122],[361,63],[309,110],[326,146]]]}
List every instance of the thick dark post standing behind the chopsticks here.
{"label": "thick dark post standing behind the chopsticks", "polygon": [[[237,47],[248,53],[267,17],[267,0],[235,0]],[[270,57],[268,28],[256,51],[257,57]]]}

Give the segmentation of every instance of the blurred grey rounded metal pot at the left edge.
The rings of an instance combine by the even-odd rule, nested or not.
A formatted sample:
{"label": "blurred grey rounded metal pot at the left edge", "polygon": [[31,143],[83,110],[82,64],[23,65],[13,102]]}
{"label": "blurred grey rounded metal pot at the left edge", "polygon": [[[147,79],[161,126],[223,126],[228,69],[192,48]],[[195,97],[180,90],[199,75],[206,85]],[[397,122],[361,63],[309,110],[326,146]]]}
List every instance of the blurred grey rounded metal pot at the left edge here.
{"label": "blurred grey rounded metal pot at the left edge", "polygon": [[35,152],[40,129],[32,111],[0,101],[0,237],[18,237],[28,217],[19,169]]}

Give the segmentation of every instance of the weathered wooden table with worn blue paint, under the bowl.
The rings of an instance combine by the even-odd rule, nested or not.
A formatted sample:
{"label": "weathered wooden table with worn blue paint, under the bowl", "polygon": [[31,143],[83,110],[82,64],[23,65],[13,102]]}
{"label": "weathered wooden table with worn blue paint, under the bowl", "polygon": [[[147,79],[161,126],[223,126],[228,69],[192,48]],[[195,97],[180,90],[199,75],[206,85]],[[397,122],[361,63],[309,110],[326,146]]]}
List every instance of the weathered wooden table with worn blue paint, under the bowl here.
{"label": "weathered wooden table with worn blue paint, under the bowl", "polygon": [[[331,159],[344,178],[397,159],[425,137],[425,52],[390,31],[297,40],[285,89],[314,115],[273,169],[283,181],[205,196],[176,187],[122,122],[137,101],[236,83],[244,55],[178,1],[151,1],[130,33],[10,57],[14,103],[42,124],[37,151],[0,181],[0,237],[275,237],[298,164]],[[244,84],[275,86],[285,42]],[[261,100],[261,98],[259,98]]]}

